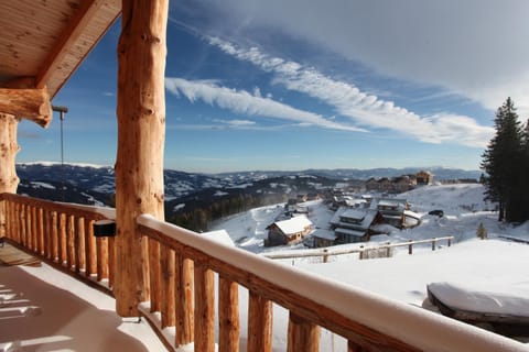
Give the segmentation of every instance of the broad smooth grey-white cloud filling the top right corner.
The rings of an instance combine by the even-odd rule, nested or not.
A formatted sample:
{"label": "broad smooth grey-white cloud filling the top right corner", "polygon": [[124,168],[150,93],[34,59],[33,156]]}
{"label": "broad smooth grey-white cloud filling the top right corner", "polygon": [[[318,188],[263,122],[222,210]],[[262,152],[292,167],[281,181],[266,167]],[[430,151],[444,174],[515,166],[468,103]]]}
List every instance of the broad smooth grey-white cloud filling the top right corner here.
{"label": "broad smooth grey-white cloud filling the top right corner", "polygon": [[217,33],[240,38],[277,30],[492,110],[510,96],[529,113],[529,1],[197,1],[215,12]]}

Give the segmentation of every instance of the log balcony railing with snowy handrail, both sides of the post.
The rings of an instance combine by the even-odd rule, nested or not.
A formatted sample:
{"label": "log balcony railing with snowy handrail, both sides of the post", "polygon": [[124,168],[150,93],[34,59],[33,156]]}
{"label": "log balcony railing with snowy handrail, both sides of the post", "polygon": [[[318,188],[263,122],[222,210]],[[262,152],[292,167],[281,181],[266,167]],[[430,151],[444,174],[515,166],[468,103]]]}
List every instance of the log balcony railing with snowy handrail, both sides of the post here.
{"label": "log balcony railing with snowy handrail, both sides of the post", "polygon": [[[104,284],[108,276],[111,287],[112,240],[94,240],[90,233],[91,221],[111,213],[13,195],[1,200],[10,241],[74,275]],[[219,352],[239,351],[246,327],[247,351],[272,351],[278,305],[289,312],[288,351],[330,350],[320,345],[321,327],[343,337],[347,351],[527,351],[514,340],[210,241],[149,215],[140,216],[138,224],[150,248],[142,261],[150,301],[139,310],[160,337],[172,339],[172,348],[194,342],[199,352],[213,352],[216,345]],[[240,321],[239,288],[248,293],[246,323]]]}

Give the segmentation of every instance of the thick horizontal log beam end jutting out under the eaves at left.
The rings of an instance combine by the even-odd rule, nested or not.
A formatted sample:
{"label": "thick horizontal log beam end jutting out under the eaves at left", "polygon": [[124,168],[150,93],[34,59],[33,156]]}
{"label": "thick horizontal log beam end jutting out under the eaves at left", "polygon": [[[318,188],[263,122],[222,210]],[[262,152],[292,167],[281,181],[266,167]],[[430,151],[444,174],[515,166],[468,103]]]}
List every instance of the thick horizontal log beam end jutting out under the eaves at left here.
{"label": "thick horizontal log beam end jutting out under the eaves at left", "polygon": [[52,105],[46,88],[0,88],[0,112],[33,121],[46,128],[52,121]]}

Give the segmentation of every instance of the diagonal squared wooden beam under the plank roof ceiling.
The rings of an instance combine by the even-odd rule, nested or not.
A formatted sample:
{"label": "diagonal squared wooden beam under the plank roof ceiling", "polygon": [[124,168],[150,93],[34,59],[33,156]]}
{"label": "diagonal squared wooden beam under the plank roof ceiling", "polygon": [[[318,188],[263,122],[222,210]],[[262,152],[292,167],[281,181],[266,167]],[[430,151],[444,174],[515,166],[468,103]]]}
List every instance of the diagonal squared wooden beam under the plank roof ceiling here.
{"label": "diagonal squared wooden beam under the plank roof ceiling", "polygon": [[104,6],[105,1],[101,0],[85,0],[80,2],[79,9],[71,19],[68,25],[63,31],[61,37],[57,40],[55,46],[50,52],[50,55],[36,75],[36,88],[43,88],[46,85],[53,72],[57,69],[66,54],[72,51],[72,46],[97,15],[99,9]]}

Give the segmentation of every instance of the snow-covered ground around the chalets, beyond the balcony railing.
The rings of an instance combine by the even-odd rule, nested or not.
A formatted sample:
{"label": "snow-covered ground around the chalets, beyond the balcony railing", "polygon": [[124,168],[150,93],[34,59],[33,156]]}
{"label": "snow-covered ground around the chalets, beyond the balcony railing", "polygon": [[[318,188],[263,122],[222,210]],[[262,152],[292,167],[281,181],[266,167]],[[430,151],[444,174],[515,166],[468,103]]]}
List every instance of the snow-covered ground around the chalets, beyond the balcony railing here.
{"label": "snow-covered ground around the chalets, beyond the balcony railing", "polygon": [[[529,245],[499,238],[507,235],[529,240],[529,222],[518,227],[498,222],[497,213],[492,211],[494,205],[483,200],[483,191],[481,185],[461,184],[428,186],[398,195],[398,198],[408,199],[412,205],[411,210],[422,217],[421,224],[402,231],[393,229],[389,235],[375,237],[375,243],[364,243],[370,246],[376,245],[376,242],[404,242],[453,235],[454,242],[450,248],[442,245],[432,251],[431,244],[425,244],[414,248],[413,255],[408,254],[408,248],[402,248],[396,249],[392,257],[365,261],[359,261],[355,254],[331,257],[330,263],[321,263],[321,260],[314,258],[283,262],[295,265],[300,271],[428,309],[432,307],[425,304],[427,285],[450,283],[450,287],[457,289],[445,293],[446,297],[462,301],[461,296],[457,298],[456,295],[461,295],[464,287],[466,292],[463,290],[463,295],[469,297],[465,306],[467,309],[501,309],[497,307],[501,305],[498,297],[507,297],[510,311],[529,317]],[[312,210],[310,219],[313,223],[319,228],[326,227],[333,212],[321,201],[307,202],[306,206]],[[428,212],[434,209],[442,209],[445,216],[429,216]],[[225,219],[216,223],[214,229],[225,229],[237,246],[256,253],[306,251],[300,244],[263,248],[266,227],[281,212],[282,205],[262,207]],[[479,223],[487,230],[488,240],[476,238]],[[471,294],[472,289],[476,292]],[[481,297],[481,300],[472,297]],[[330,348],[328,351],[333,349]]]}

